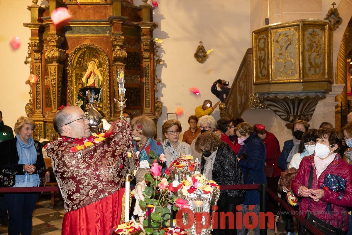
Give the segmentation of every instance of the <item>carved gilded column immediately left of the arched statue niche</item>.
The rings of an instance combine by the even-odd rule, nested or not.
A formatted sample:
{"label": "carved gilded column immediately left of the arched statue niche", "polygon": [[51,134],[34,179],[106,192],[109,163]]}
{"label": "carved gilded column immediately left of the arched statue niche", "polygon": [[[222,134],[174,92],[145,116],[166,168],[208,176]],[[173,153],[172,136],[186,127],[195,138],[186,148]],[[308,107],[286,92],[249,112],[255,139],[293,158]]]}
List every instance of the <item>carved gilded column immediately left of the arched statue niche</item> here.
{"label": "carved gilded column immediately left of the arched statue niche", "polygon": [[[50,35],[50,34],[49,34]],[[45,50],[45,58],[49,61],[48,72],[51,89],[51,115],[54,116],[59,105],[61,105],[61,93],[62,93],[62,75],[63,65],[61,61],[65,60],[65,50],[59,49],[60,45],[64,41],[64,37],[54,34],[46,38],[49,43],[49,47]]]}

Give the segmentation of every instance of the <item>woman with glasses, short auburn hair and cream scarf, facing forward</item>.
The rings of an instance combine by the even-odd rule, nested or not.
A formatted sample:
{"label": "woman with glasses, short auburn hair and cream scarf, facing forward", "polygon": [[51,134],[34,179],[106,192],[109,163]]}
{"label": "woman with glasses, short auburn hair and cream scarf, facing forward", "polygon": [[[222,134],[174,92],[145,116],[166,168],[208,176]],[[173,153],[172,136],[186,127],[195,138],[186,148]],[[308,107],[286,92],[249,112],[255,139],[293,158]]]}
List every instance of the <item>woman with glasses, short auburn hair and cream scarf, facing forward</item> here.
{"label": "woman with glasses, short auburn hair and cream scarf, facing forward", "polygon": [[170,166],[177,157],[184,154],[192,154],[188,143],[180,141],[181,123],[178,120],[168,120],[162,126],[162,133],[165,136],[163,143],[166,166]]}

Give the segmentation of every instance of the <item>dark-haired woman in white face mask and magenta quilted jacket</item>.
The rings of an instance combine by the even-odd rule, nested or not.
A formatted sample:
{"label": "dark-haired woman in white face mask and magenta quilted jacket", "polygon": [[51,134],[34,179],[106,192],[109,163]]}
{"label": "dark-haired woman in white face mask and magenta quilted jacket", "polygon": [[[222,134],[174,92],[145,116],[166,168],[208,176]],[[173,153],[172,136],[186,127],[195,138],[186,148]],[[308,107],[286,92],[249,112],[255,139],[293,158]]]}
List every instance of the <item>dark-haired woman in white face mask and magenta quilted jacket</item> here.
{"label": "dark-haired woman in white face mask and magenta quilted jacket", "polygon": [[[339,154],[341,143],[339,131],[333,128],[318,129],[315,153],[302,159],[291,189],[296,196],[302,197],[302,215],[306,215],[309,210],[315,217],[335,228],[340,228],[345,222],[342,227],[345,232],[348,229],[346,208],[352,206],[352,166],[342,160]],[[343,193],[328,185],[326,176],[346,180]]]}

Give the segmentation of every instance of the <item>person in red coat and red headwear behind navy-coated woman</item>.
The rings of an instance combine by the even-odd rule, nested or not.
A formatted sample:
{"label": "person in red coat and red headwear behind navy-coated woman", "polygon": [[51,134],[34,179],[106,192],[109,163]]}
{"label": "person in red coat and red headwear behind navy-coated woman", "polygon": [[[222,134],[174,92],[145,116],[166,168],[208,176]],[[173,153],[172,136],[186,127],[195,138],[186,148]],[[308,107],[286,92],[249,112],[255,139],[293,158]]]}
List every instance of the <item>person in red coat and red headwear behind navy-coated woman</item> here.
{"label": "person in red coat and red headwear behind navy-coated woman", "polygon": [[[254,131],[257,132],[259,138],[261,138],[265,145],[265,165],[274,166],[272,175],[266,175],[266,181],[268,182],[268,187],[273,191],[277,192],[277,184],[280,179],[280,173],[282,169],[277,166],[277,160],[280,157],[280,144],[274,134],[265,130],[265,126],[262,124],[256,124],[253,126]],[[278,203],[274,198],[269,196],[268,200],[268,211],[277,215],[279,208]]]}

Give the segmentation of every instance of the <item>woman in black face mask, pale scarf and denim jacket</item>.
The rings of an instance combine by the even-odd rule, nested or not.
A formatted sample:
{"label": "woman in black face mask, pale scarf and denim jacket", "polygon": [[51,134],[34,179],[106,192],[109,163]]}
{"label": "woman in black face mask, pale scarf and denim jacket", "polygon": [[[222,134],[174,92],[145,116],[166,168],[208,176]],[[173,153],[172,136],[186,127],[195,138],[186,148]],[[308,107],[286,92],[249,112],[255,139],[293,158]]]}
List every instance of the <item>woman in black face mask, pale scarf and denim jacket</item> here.
{"label": "woman in black face mask, pale scarf and denim jacket", "polygon": [[298,147],[300,145],[301,138],[303,136],[303,133],[306,132],[308,128],[309,125],[304,120],[297,120],[293,123],[293,140],[287,140],[284,142],[284,147],[282,148],[281,155],[277,162],[278,166],[283,169],[283,171],[287,170],[293,155],[298,153]]}

